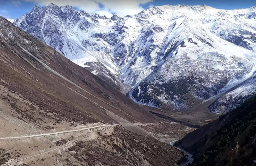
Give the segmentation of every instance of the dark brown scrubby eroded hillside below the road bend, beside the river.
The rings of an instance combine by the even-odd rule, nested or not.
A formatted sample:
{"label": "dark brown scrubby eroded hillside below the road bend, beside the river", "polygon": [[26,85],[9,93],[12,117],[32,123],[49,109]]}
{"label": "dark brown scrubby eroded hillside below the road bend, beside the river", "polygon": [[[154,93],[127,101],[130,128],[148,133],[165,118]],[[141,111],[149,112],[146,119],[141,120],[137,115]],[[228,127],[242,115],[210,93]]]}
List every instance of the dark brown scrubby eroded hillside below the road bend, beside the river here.
{"label": "dark brown scrubby eroded hillside below the road bend, beside the river", "polygon": [[[156,166],[174,165],[178,161],[177,157],[182,156],[181,152],[169,145],[130,133],[120,127],[115,128],[114,135],[99,135],[99,138],[92,142],[78,141],[68,150],[74,151],[70,154],[78,161],[86,159],[88,165],[141,165],[142,162]],[[127,154],[129,158],[126,157]]]}

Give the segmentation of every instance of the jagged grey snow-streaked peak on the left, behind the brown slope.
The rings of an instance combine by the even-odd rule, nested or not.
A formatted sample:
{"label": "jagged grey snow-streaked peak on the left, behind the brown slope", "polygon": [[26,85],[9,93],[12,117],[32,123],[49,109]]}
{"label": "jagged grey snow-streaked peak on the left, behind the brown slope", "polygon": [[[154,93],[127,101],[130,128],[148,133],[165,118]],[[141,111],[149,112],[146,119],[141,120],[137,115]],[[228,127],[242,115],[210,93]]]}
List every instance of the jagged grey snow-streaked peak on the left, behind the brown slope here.
{"label": "jagged grey snow-streaked peak on the left, behind the brown slope", "polygon": [[[112,74],[117,75],[118,68],[107,53],[108,44],[96,37],[90,38],[91,35],[108,32],[113,24],[106,17],[54,4],[43,9],[35,6],[30,13],[15,21],[15,25],[19,25],[80,66],[86,67],[86,62],[100,62]],[[95,45],[95,42],[100,42],[102,46]]]}

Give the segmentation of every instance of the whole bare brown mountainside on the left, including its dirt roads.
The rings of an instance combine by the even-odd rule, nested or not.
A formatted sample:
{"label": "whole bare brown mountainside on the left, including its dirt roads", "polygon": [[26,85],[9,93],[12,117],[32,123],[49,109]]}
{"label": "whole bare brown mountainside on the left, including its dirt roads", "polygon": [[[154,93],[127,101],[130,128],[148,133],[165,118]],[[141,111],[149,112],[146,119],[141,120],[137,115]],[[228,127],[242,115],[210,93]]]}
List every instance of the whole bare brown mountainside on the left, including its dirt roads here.
{"label": "whole bare brown mountainside on the left, including its dirt roads", "polygon": [[160,166],[184,156],[159,141],[161,119],[148,108],[3,17],[0,72],[1,165]]}

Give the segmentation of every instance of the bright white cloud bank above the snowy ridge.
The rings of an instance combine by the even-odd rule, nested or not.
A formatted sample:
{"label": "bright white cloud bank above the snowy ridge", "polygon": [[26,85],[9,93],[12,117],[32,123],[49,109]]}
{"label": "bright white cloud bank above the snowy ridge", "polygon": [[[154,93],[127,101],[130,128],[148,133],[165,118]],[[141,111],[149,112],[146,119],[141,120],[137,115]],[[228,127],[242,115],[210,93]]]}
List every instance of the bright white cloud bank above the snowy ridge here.
{"label": "bright white cloud bank above the snowy ridge", "polygon": [[[135,15],[144,10],[140,5],[150,3],[153,0],[23,0],[27,2],[36,2],[39,6],[47,6],[54,3],[58,6],[70,5],[89,13],[98,13],[110,17],[111,13],[119,16]],[[104,7],[100,8],[99,3]]]}

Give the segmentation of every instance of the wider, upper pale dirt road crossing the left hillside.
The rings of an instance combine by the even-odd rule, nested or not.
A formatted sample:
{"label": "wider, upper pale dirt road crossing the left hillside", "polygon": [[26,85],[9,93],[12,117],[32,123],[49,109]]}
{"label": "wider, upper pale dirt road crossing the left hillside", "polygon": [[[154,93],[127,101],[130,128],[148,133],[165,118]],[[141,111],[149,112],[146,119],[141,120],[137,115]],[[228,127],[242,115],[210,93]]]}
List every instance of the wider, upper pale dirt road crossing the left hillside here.
{"label": "wider, upper pale dirt road crossing the left hillside", "polygon": [[109,126],[111,126],[111,125],[93,126],[93,127],[86,127],[86,128],[81,128],[81,129],[77,129],[77,130],[67,130],[67,131],[61,131],[61,132],[55,132],[55,133],[46,133],[46,134],[16,136],[16,137],[2,137],[2,138],[0,138],[0,140],[2,140],[2,139],[31,138],[31,137],[40,137],[40,136],[46,136],[46,135],[56,135],[56,134],[62,134],[62,133],[72,133],[72,132],[78,132],[78,131],[93,129],[93,128],[109,127]]}

